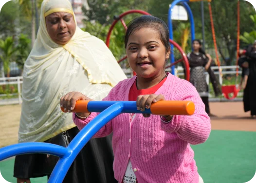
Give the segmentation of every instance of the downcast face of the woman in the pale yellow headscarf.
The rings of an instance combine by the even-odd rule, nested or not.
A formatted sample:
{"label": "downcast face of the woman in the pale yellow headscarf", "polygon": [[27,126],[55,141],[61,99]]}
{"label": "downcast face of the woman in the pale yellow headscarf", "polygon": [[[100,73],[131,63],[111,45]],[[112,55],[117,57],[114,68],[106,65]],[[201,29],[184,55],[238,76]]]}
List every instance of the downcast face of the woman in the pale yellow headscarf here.
{"label": "downcast face of the woman in the pale yellow headscarf", "polygon": [[73,15],[66,12],[56,12],[45,17],[47,32],[51,39],[60,45],[65,45],[75,33]]}

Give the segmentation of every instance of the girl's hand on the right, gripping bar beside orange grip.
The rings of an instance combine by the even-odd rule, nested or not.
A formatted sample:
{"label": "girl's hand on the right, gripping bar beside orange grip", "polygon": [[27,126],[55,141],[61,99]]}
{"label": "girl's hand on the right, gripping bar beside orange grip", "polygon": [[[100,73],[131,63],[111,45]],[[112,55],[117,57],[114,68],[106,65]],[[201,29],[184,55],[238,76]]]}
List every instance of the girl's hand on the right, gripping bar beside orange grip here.
{"label": "girl's hand on the right, gripping bar beside orange grip", "polygon": [[[151,103],[156,103],[159,100],[165,100],[165,97],[163,95],[140,95],[137,98],[137,109],[141,111],[145,111],[146,109],[149,109],[151,106]],[[149,117],[150,114],[143,114],[144,117]]]}

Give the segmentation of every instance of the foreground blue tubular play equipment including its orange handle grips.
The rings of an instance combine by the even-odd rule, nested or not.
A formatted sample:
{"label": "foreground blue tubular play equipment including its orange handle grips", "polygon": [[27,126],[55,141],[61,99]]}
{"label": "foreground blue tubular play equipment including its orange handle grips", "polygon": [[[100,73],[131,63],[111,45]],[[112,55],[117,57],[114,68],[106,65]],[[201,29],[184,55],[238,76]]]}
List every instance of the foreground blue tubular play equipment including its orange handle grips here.
{"label": "foreground blue tubular play equipment including its orange handle grips", "polygon": [[[63,111],[63,109],[62,109]],[[86,143],[111,119],[121,113],[145,113],[155,115],[193,115],[195,105],[192,101],[158,101],[144,112],[137,110],[136,101],[77,101],[74,112],[101,112],[86,125],[67,148],[43,143],[28,142],[14,144],[0,149],[0,161],[21,154],[44,153],[58,156],[48,183],[62,183],[75,157]]]}

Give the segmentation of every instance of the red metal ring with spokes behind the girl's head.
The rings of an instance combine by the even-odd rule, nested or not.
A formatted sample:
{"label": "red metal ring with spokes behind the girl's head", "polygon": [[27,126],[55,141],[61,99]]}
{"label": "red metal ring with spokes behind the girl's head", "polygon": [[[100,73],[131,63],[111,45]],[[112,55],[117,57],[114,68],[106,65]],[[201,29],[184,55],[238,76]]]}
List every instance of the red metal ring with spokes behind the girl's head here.
{"label": "red metal ring with spokes behind the girl's head", "polygon": [[[111,25],[111,27],[110,27],[110,30],[109,30],[109,32],[108,32],[108,34],[107,34],[107,39],[106,39],[106,45],[107,45],[108,48],[110,47],[110,35],[111,35],[111,33],[112,33],[112,30],[113,30],[115,24],[120,20],[121,23],[123,24],[124,28],[127,30],[126,23],[125,23],[125,21],[124,21],[122,18],[125,17],[125,16],[127,16],[128,14],[133,14],[133,13],[138,13],[138,14],[143,14],[143,15],[150,15],[149,13],[147,13],[147,12],[145,12],[145,11],[142,11],[142,10],[129,10],[129,11],[127,11],[127,12],[122,13],[122,14],[119,15],[118,17],[114,17],[115,20],[113,21],[113,23],[112,23],[112,25]],[[165,68],[172,67],[173,65],[178,64],[179,62],[182,62],[182,61],[183,61],[184,64],[185,64],[185,71],[186,71],[186,78],[185,78],[185,79],[186,79],[187,81],[189,81],[190,72],[189,72],[189,64],[188,64],[188,60],[187,60],[186,54],[184,53],[184,51],[182,50],[182,48],[180,47],[180,45],[178,45],[175,41],[173,41],[173,40],[171,40],[171,39],[170,39],[169,41],[170,41],[171,44],[173,44],[174,47],[176,47],[176,48],[180,51],[180,53],[182,54],[182,59],[180,59],[180,60],[174,62],[173,64],[171,64],[171,65],[169,65],[169,66],[167,66],[167,67],[165,67]],[[125,56],[124,58],[122,58],[121,60],[119,60],[118,63],[124,61],[125,59],[127,59],[127,56]],[[133,75],[136,75],[136,73],[133,72]]]}

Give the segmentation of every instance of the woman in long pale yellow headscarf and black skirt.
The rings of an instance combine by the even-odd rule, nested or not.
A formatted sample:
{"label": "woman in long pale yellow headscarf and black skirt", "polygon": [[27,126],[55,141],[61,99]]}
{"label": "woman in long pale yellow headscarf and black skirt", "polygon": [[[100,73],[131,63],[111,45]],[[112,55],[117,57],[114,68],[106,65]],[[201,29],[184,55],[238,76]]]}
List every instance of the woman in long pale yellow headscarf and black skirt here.
{"label": "woman in long pale yellow headscarf and black skirt", "polygon": [[[61,96],[80,91],[102,100],[126,79],[114,56],[100,39],[76,26],[68,0],[44,0],[37,40],[25,65],[18,142],[47,142],[67,147],[79,132],[72,115],[60,110]],[[55,156],[17,156],[18,183],[50,176]],[[78,154],[63,183],[115,183],[111,137],[91,139]]]}

